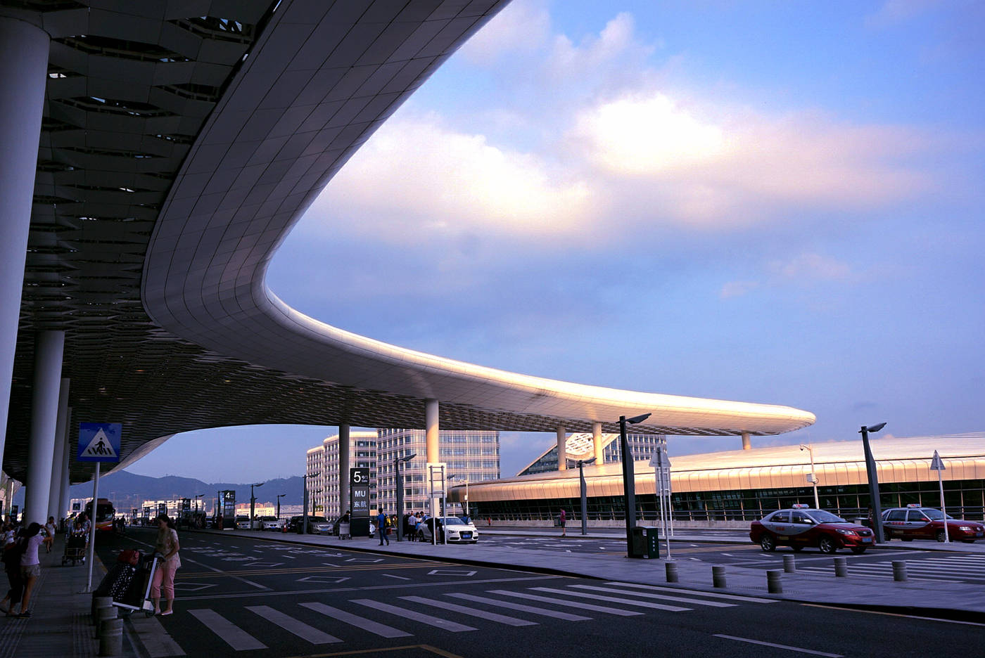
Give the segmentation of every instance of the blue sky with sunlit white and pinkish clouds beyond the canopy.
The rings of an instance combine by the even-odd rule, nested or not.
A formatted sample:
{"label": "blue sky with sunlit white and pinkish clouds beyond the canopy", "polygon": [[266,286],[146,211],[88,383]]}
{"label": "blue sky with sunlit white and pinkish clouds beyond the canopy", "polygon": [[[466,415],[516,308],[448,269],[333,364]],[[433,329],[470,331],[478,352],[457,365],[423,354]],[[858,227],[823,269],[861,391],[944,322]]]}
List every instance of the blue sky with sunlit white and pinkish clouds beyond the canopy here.
{"label": "blue sky with sunlit white and pinkish clouds beyond the canopy", "polygon": [[[268,284],[432,354],[818,417],[754,447],[980,431],[983,80],[975,0],[515,0],[329,183]],[[296,475],[335,431],[186,433],[128,470]],[[503,476],[553,441],[502,433]]]}

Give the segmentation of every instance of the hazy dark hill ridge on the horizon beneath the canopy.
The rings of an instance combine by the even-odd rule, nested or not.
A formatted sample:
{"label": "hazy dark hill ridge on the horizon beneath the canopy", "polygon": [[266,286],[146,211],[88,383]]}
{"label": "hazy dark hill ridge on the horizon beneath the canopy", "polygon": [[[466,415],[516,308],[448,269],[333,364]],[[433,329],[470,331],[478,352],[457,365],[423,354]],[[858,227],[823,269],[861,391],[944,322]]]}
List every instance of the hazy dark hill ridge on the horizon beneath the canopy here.
{"label": "hazy dark hill ridge on the horizon beneath the canopy", "polygon": [[[290,478],[267,480],[262,487],[254,488],[257,502],[276,502],[278,494],[287,494],[281,499],[281,505],[301,505],[302,479],[299,475]],[[182,498],[192,499],[196,494],[202,497],[206,509],[212,509],[218,492],[232,489],[236,492],[236,501],[249,501],[249,483],[236,484],[232,482],[202,482],[195,478],[165,475],[164,477],[149,477],[136,475],[127,471],[110,473],[99,478],[99,498],[108,498],[119,510],[140,508],[144,501],[173,501]],[[70,498],[91,498],[93,483],[72,485]],[[24,508],[24,489],[14,496],[14,505]]]}

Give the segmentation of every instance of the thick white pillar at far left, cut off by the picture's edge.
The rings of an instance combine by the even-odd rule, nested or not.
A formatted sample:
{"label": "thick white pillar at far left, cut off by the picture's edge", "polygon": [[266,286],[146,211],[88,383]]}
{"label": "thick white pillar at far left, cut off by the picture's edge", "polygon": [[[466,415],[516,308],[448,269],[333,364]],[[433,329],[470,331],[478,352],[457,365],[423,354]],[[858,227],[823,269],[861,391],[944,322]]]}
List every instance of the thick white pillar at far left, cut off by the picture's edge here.
{"label": "thick white pillar at far left, cut off by the picture's edge", "polygon": [[0,16],[0,455],[21,317],[48,42],[40,28]]}

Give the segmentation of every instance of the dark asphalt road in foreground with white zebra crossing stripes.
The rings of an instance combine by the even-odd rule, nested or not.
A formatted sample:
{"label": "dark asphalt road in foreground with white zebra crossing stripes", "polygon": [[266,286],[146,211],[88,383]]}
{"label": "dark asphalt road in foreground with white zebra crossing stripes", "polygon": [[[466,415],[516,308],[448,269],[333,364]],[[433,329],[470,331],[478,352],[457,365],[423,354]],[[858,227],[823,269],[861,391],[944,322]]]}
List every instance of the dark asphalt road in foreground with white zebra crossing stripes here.
{"label": "dark asphalt road in foreground with white zebra crossing stripes", "polygon": [[964,657],[985,628],[191,532],[181,559],[175,613],[127,622],[142,656]]}

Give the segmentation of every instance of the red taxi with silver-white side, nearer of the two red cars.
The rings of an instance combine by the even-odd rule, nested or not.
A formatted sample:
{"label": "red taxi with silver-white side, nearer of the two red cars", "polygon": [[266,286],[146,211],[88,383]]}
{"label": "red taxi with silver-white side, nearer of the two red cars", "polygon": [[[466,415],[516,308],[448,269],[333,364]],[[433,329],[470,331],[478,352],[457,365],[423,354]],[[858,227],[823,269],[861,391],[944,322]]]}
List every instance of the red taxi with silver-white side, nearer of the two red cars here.
{"label": "red taxi with silver-white side, nearer of the two red cars", "polygon": [[775,551],[777,546],[789,546],[794,551],[817,546],[821,553],[847,548],[856,555],[865,553],[875,541],[869,528],[807,505],[778,509],[753,521],[749,538],[763,551]]}

